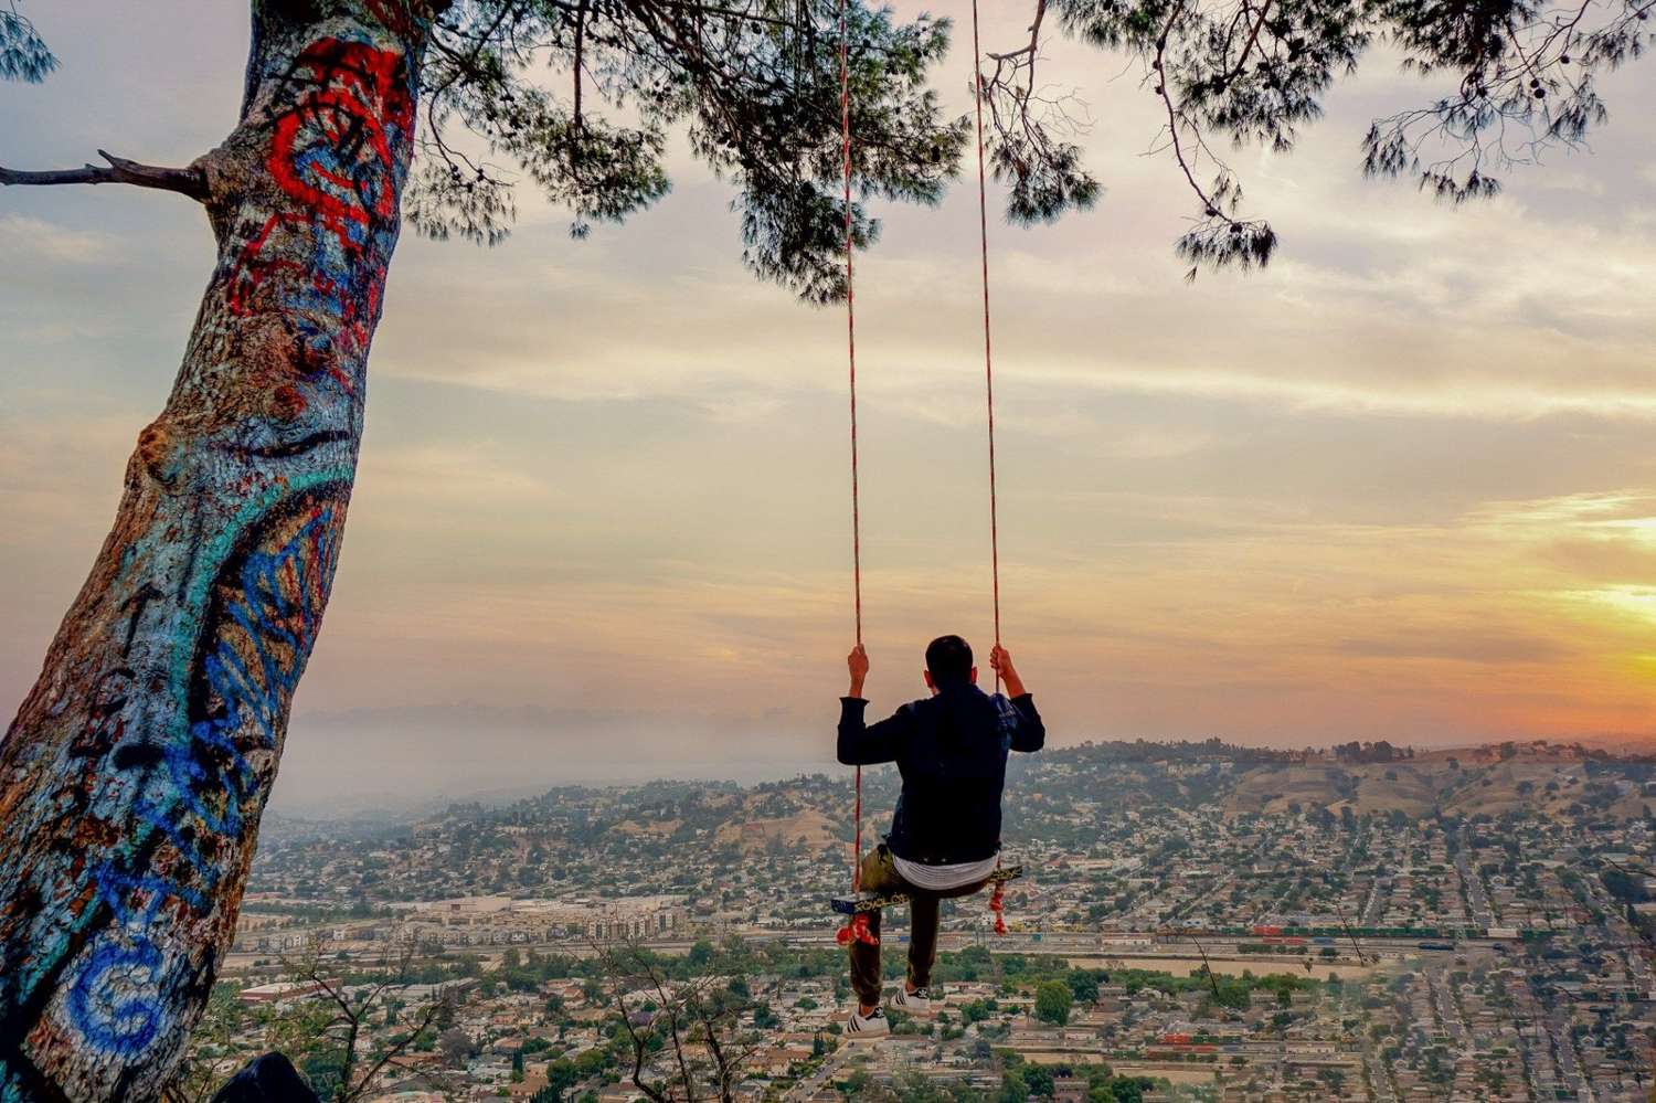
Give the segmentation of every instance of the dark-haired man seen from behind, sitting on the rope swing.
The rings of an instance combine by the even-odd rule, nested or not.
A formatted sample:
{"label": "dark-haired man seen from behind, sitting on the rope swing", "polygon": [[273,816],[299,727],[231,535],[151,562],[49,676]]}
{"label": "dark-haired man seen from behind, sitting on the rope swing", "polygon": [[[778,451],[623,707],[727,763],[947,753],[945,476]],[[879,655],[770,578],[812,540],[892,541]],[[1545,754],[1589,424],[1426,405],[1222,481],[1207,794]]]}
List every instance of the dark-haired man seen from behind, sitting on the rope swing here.
{"label": "dark-haired man seen from behind, sitting on the rope swing", "polygon": [[[1000,646],[989,664],[1007,694],[977,687],[972,648],[959,636],[939,636],[926,648],[926,686],[932,696],[866,725],[863,679],[868,653],[858,644],[846,659],[851,692],[840,699],[840,762],[896,762],[903,795],[891,835],[863,855],[861,889],[909,896],[909,975],[891,1005],[909,1014],[931,1010],[931,969],[937,957],[939,901],[970,896],[989,883],[1000,860],[1000,790],[1007,752],[1040,750],[1047,729],[1012,656]],[[858,1009],[850,1037],[889,1032],[879,1007],[879,911],[868,913],[869,944],[851,939],[851,989]]]}

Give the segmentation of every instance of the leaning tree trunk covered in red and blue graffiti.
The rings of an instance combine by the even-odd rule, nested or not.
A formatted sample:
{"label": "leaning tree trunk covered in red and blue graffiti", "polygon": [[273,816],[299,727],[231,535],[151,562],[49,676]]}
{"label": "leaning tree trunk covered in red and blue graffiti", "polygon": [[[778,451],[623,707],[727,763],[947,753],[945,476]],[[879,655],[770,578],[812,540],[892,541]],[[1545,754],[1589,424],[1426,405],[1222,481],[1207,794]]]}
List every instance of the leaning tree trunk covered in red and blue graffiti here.
{"label": "leaning tree trunk covered in red and blue graffiti", "polygon": [[0,742],[0,1103],[159,1095],[328,604],[434,5],[255,0],[219,260]]}

